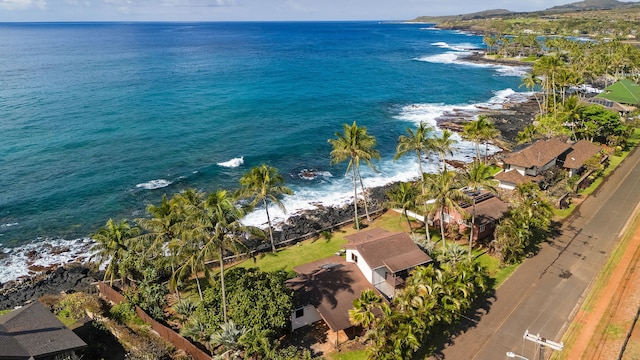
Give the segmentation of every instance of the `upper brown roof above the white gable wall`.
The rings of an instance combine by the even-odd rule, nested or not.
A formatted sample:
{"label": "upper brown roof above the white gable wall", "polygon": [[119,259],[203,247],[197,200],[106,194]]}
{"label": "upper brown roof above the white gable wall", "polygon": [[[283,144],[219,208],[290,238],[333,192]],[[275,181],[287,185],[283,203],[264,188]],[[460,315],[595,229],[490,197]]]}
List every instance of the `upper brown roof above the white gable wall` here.
{"label": "upper brown roof above the white gable wall", "polygon": [[371,269],[386,266],[398,272],[431,261],[406,233],[371,229],[346,236],[347,248],[356,249]]}

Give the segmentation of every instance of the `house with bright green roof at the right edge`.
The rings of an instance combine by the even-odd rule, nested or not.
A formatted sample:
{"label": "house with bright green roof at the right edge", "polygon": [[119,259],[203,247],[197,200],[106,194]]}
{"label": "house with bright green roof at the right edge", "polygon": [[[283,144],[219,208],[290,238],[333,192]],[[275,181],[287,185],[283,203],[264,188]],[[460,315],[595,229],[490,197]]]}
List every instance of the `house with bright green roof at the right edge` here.
{"label": "house with bright green roof at the right edge", "polygon": [[628,114],[640,107],[640,86],[629,79],[622,79],[586,102],[602,105],[622,115]]}

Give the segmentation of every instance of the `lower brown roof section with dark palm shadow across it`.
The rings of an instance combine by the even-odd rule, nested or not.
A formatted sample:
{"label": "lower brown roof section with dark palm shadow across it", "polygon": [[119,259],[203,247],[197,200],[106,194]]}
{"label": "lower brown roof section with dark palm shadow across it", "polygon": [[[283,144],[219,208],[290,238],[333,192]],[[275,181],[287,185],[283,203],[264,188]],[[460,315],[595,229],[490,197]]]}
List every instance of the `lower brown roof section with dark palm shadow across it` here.
{"label": "lower brown roof section with dark palm shadow across it", "polygon": [[365,289],[376,291],[355,263],[341,256],[314,261],[294,268],[298,276],[287,281],[303,304],[311,304],[332,331],[351,327],[349,310]]}

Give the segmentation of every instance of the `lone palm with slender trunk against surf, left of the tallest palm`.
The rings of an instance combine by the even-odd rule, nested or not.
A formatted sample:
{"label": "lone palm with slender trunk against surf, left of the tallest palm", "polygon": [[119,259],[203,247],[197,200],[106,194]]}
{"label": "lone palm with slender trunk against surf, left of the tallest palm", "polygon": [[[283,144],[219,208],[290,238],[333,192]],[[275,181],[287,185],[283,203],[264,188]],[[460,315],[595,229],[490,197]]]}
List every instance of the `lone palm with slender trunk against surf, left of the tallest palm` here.
{"label": "lone palm with slender trunk against surf, left of the tallest palm", "polygon": [[271,240],[271,251],[276,252],[276,244],[273,241],[273,226],[271,225],[271,217],[269,216],[269,203],[275,204],[282,212],[286,213],[284,204],[278,196],[292,195],[293,191],[284,186],[284,177],[278,174],[278,169],[272,166],[262,164],[254,167],[250,172],[244,174],[240,178],[240,196],[253,198],[251,206],[262,202],[264,210],[267,213],[267,222],[269,223],[269,239]]}

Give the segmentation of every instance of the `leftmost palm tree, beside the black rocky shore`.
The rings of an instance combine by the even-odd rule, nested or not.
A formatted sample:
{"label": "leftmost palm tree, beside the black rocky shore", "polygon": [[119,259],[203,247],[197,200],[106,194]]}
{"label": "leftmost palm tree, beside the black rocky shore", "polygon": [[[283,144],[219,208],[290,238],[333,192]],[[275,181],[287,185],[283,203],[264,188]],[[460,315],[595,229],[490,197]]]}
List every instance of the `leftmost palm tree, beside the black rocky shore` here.
{"label": "leftmost palm tree, beside the black rocky shore", "polygon": [[[137,227],[131,227],[126,219],[118,222],[109,219],[106,225],[98,229],[92,236],[97,242],[94,249],[98,250],[99,264],[109,261],[103,279],[106,281],[109,277],[109,286],[113,285],[116,274],[123,275],[126,271],[120,267],[120,264],[128,255],[130,240],[138,236],[139,233],[140,230]],[[124,278],[124,276],[122,277]]]}

